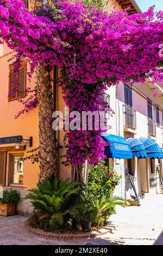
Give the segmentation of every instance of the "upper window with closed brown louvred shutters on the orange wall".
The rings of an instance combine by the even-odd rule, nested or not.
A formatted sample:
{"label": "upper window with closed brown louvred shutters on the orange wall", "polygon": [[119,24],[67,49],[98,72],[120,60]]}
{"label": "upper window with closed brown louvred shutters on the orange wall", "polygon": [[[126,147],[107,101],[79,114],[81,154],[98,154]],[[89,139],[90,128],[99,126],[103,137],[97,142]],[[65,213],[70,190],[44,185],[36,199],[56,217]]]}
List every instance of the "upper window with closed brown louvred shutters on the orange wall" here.
{"label": "upper window with closed brown louvred shutters on the orange wall", "polygon": [[27,63],[24,63],[20,70],[18,70],[17,81],[18,81],[18,89],[15,90],[15,71],[13,70],[12,65],[9,66],[9,101],[17,100],[22,97],[25,97],[26,90],[26,76],[27,76]]}

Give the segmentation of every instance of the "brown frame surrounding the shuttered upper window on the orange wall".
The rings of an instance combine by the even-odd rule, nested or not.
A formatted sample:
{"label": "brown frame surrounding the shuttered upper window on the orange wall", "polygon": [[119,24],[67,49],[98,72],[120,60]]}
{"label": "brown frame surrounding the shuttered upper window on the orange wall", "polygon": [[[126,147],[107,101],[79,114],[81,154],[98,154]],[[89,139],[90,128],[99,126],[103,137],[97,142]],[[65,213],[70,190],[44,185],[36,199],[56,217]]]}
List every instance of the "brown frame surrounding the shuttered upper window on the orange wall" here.
{"label": "brown frame surrounding the shuttered upper window on the orange wall", "polygon": [[[27,88],[27,60],[24,60],[24,62],[21,65],[21,68],[19,70],[24,69],[24,91]],[[10,92],[11,89],[11,74],[13,74],[15,72],[14,68],[12,65],[9,65],[9,88],[8,88],[8,92]],[[18,99],[22,99],[26,97],[26,93],[23,93],[23,95],[18,96],[18,92],[16,92],[16,96],[15,97],[9,97],[8,95],[8,101],[14,101],[14,100],[18,100]]]}

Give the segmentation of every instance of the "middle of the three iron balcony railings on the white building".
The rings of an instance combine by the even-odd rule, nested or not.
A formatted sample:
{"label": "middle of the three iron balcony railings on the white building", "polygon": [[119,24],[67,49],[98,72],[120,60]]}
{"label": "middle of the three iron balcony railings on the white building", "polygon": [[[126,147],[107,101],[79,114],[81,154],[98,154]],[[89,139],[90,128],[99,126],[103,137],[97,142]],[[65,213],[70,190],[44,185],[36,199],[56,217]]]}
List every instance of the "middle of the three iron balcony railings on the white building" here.
{"label": "middle of the three iron balcony railings on the white building", "polygon": [[124,125],[136,129],[136,110],[128,105],[123,105]]}

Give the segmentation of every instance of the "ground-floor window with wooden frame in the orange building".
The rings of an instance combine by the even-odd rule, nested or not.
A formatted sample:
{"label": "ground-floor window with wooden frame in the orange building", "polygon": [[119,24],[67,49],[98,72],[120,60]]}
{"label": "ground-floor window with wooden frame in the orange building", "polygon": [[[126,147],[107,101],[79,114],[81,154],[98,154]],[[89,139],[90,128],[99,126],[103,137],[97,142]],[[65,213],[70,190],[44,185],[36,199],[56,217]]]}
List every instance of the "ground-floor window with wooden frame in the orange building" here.
{"label": "ground-floor window with wooden frame in the orange building", "polygon": [[9,185],[23,185],[24,162],[23,154],[10,154],[9,157]]}

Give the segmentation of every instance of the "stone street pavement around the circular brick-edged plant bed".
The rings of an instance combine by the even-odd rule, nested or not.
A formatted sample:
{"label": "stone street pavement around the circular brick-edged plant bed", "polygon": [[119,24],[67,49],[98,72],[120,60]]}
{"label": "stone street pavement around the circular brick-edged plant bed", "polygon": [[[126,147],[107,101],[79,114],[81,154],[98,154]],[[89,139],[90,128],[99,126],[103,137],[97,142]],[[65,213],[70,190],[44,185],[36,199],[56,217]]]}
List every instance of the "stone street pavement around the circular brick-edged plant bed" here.
{"label": "stone street pavement around the circular brick-edged plant bed", "polygon": [[163,245],[163,194],[141,200],[141,206],[117,208],[110,218],[113,234],[79,242],[46,240],[23,230],[27,218],[0,216],[0,245]]}

